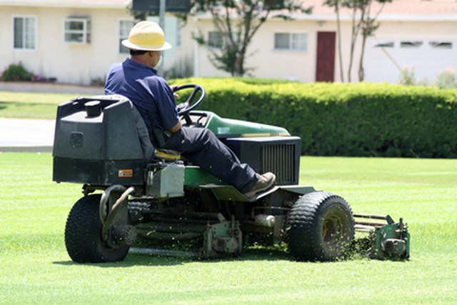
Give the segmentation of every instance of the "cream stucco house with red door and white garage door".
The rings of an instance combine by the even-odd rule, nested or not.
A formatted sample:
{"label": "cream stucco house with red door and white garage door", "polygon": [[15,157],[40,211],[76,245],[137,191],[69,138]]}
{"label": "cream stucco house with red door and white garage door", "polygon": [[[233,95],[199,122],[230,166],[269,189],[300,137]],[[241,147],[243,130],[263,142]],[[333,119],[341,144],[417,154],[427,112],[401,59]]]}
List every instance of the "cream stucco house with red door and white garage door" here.
{"label": "cream stucco house with red door and white garage door", "polygon": [[[268,19],[254,36],[246,59],[252,76],[303,82],[341,81],[336,16],[323,0],[304,0],[313,14],[292,21]],[[0,71],[21,62],[26,69],[69,84],[103,80],[109,66],[128,53],[120,41],[134,24],[131,0],[0,0]],[[373,6],[372,11],[376,11]],[[393,0],[378,17],[381,26],[366,44],[366,81],[398,81],[400,69],[414,69],[416,79],[433,81],[446,68],[457,68],[457,2]],[[214,37],[209,14],[185,23],[168,14],[164,71],[175,75],[228,76],[209,61],[205,46],[192,33]],[[351,14],[341,12],[341,47],[347,81]],[[360,41],[360,39],[359,39]],[[359,46],[351,79],[356,81]]]}

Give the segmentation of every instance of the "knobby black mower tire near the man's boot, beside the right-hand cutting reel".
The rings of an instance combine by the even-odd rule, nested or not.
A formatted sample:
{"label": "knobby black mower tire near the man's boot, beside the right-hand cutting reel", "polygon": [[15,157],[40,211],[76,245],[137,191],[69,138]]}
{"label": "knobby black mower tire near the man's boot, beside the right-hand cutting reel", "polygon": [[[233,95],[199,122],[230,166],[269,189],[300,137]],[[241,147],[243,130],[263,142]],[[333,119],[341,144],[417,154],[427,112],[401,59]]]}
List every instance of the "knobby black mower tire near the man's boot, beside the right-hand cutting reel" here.
{"label": "knobby black mower tire near the man's boot, beside the right-hand cutting reel", "polygon": [[346,254],[354,220],[342,197],[314,191],[297,199],[288,216],[288,251],[298,261],[332,261]]}

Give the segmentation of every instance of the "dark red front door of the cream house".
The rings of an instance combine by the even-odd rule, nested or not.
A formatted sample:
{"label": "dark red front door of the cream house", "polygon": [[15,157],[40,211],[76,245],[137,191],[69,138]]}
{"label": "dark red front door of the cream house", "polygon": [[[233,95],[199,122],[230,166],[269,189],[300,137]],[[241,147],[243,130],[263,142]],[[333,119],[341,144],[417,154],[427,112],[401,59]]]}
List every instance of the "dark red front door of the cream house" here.
{"label": "dark red front door of the cream house", "polygon": [[334,80],[335,37],[334,31],[319,31],[317,33],[316,81]]}

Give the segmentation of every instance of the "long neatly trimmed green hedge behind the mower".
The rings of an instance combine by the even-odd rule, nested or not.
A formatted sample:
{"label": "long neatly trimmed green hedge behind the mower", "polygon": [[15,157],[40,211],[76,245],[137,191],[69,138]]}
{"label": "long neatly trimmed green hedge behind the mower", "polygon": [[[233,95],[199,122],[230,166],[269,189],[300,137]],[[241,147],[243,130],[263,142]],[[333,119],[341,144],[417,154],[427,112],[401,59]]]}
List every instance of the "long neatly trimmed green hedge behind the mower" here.
{"label": "long neatly trimmed green hedge behind the mower", "polygon": [[283,126],[319,156],[457,157],[457,91],[394,84],[178,79],[206,89],[200,107]]}

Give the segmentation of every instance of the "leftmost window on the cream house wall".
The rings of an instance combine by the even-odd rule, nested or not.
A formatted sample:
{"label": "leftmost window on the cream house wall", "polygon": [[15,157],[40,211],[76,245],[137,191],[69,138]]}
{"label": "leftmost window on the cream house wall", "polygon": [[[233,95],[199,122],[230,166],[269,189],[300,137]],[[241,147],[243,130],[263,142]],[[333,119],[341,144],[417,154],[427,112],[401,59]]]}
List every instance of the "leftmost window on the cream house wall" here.
{"label": "leftmost window on the cream house wall", "polygon": [[36,49],[36,17],[17,16],[13,18],[14,49]]}

